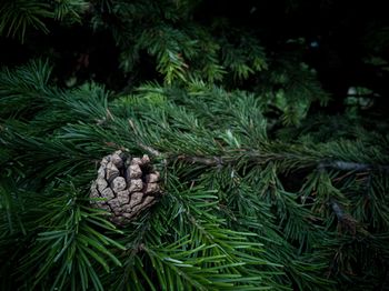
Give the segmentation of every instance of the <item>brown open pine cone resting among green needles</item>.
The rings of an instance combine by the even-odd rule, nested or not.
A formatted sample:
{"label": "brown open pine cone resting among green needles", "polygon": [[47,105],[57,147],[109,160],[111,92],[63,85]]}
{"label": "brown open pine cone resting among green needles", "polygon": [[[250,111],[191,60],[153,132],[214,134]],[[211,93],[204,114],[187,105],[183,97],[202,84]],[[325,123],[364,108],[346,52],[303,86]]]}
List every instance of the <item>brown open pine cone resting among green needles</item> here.
{"label": "brown open pine cone resting among green needles", "polygon": [[91,204],[110,212],[113,223],[127,224],[161,195],[159,172],[153,170],[147,154],[131,159],[116,151],[100,164],[91,187]]}

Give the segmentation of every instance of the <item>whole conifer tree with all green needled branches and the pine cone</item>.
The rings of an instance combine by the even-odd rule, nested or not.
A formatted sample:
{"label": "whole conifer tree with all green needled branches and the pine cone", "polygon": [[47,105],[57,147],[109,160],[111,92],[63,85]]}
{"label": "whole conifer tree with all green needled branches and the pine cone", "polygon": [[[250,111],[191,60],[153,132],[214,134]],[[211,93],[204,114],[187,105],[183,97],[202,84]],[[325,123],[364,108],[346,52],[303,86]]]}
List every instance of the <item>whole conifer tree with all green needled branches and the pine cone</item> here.
{"label": "whole conifer tree with all green needled branches and the pine cone", "polygon": [[[208,10],[4,1],[0,34],[31,60],[0,71],[1,290],[389,284],[383,89],[353,84],[331,112],[307,39],[273,42]],[[120,73],[102,77],[90,48],[68,73],[38,44],[80,27]],[[388,43],[365,60],[382,74]]]}

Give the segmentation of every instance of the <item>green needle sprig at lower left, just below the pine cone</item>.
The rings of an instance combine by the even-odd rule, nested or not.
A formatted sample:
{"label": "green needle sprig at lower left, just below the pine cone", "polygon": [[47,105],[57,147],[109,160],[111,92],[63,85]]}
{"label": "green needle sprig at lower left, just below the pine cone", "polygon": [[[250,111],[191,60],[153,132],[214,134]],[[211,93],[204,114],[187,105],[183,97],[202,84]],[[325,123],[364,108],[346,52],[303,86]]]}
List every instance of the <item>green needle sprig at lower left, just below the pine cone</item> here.
{"label": "green needle sprig at lower left, just below the pine cone", "polygon": [[[89,285],[103,290],[98,272],[110,272],[111,262],[121,265],[111,250],[126,248],[101,232],[121,232],[107,222],[101,211],[82,207],[78,202],[82,198],[72,185],[60,184],[54,191],[59,193],[33,193],[40,200],[39,208],[26,215],[39,219],[38,224],[29,227],[34,240],[20,259],[18,279],[29,289],[74,290],[81,283],[82,290]],[[44,201],[47,197],[50,198]],[[49,275],[52,278],[48,282]]]}

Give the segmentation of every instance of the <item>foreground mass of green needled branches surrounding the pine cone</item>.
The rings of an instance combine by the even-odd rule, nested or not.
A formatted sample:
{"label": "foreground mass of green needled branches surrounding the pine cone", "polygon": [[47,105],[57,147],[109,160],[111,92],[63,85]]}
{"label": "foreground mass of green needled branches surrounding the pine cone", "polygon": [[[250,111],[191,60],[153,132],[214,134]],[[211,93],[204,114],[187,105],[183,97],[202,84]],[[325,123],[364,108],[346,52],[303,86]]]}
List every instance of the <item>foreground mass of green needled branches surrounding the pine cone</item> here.
{"label": "foreground mass of green needled branches surrounding the pine cone", "polygon": [[[13,253],[4,285],[330,290],[365,272],[370,250],[385,265],[385,144],[271,141],[266,98],[202,81],[109,101],[96,84],[51,86],[50,71],[42,61],[2,71],[1,249]],[[94,164],[144,146],[162,153],[166,194],[119,231],[89,207]],[[301,174],[300,190],[285,181]]]}

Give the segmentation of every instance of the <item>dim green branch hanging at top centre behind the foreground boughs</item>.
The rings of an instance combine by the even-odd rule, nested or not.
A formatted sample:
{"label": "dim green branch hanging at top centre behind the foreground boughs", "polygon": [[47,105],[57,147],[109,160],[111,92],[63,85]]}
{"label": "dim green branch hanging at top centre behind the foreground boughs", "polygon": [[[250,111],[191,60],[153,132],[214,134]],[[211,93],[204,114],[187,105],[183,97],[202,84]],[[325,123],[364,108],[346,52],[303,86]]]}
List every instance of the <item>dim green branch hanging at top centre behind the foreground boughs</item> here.
{"label": "dim green branch hanging at top centre behind the foreground boughs", "polygon": [[[233,79],[245,80],[267,68],[266,53],[255,36],[243,30],[231,31],[228,37],[212,36],[205,24],[190,17],[197,1],[188,2],[114,1],[101,4],[92,26],[96,30],[112,30],[124,72],[134,70],[146,51],[156,58],[156,69],[167,84],[188,81],[190,77],[221,81],[227,72]],[[113,27],[103,20],[106,14],[114,19]]]}

